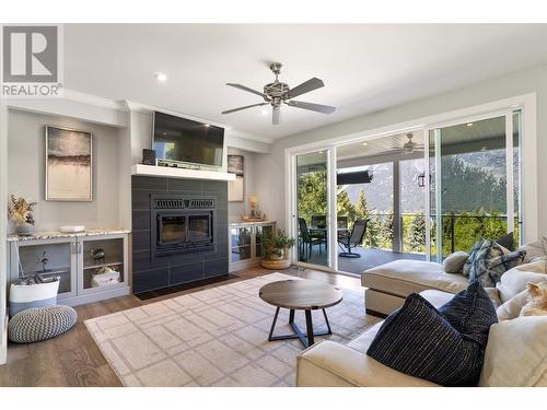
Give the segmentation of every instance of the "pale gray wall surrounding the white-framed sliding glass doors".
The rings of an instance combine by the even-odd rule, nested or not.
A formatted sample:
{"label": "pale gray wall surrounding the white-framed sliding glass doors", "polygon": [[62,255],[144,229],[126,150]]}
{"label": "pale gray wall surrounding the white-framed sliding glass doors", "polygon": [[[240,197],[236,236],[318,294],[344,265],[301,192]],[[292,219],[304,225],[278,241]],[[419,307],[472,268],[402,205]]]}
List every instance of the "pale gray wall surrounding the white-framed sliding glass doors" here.
{"label": "pale gray wall surrounding the white-framed sliding glass doors", "polygon": [[539,233],[547,234],[547,66],[513,72],[500,78],[442,93],[377,113],[360,116],[311,131],[276,140],[271,154],[256,155],[255,191],[265,212],[286,224],[284,150],[305,143],[364,132],[380,127],[452,112],[527,93],[537,93],[537,155]]}

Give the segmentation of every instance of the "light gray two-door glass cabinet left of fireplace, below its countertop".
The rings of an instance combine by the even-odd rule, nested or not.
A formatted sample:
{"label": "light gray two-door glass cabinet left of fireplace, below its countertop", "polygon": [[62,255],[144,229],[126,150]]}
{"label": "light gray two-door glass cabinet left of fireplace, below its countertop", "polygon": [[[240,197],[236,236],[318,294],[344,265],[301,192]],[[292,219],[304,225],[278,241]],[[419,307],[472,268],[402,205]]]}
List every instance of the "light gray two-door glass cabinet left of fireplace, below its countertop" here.
{"label": "light gray two-door glass cabinet left of fireplace, below its countertop", "polygon": [[14,239],[9,249],[10,281],[34,273],[59,277],[59,304],[130,293],[127,233]]}

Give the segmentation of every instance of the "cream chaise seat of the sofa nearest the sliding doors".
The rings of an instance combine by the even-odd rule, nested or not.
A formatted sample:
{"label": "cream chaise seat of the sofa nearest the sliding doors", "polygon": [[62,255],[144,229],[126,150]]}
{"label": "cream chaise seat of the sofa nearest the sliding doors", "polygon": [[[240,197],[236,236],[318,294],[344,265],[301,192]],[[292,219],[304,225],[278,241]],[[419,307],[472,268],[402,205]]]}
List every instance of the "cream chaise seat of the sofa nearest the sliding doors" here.
{"label": "cream chaise seat of the sofa nearest the sliding doors", "polygon": [[441,263],[421,260],[395,260],[366,270],[362,278],[365,288],[406,297],[428,289],[457,293],[468,285],[458,273],[445,273]]}

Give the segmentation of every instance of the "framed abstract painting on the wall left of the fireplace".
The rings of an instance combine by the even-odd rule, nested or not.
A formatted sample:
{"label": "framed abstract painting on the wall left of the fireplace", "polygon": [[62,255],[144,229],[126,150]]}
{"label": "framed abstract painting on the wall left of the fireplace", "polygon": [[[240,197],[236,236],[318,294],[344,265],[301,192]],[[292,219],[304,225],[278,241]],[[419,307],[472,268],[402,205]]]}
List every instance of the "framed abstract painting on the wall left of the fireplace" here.
{"label": "framed abstract painting on the wall left of the fireplace", "polygon": [[92,134],[46,126],[46,201],[93,200]]}

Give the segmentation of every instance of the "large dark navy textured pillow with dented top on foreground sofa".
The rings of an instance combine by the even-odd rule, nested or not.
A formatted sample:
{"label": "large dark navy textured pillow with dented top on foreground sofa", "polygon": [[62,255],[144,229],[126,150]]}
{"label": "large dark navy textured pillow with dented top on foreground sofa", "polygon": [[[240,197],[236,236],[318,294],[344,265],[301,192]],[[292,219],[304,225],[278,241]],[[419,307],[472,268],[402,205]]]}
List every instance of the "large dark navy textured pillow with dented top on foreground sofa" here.
{"label": "large dark navy textured pillow with dented top on foreground sofa", "polygon": [[482,298],[486,292],[478,288],[481,292],[476,284],[469,285],[468,291],[443,306],[446,316],[412,293],[384,320],[366,354],[399,372],[443,386],[476,385],[488,331],[497,321],[493,305],[488,306]]}

